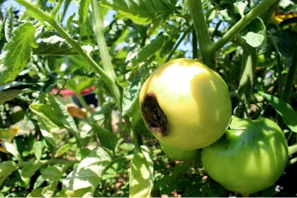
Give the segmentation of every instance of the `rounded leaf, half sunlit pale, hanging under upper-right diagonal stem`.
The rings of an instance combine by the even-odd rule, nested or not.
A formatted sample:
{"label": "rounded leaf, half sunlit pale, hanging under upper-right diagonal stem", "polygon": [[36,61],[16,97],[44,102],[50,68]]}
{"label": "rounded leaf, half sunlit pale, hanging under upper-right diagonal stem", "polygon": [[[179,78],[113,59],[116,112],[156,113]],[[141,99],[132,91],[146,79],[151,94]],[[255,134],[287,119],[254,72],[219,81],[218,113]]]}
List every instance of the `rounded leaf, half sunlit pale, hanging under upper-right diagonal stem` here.
{"label": "rounded leaf, half sunlit pale, hanging under upper-right diagonal stem", "polygon": [[254,48],[263,48],[267,43],[266,28],[261,18],[252,20],[239,35]]}

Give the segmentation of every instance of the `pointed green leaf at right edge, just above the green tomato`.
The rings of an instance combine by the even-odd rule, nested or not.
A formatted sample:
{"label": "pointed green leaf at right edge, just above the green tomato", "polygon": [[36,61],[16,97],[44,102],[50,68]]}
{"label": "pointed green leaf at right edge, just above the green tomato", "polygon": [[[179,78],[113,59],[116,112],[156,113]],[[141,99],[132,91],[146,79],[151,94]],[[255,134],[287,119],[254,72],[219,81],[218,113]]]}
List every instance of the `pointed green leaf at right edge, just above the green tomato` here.
{"label": "pointed green leaf at right edge, just above the green tomato", "polygon": [[297,132],[297,113],[290,104],[284,102],[282,99],[278,99],[269,94],[259,92],[260,95],[266,99],[277,113],[282,117],[285,124],[293,131]]}

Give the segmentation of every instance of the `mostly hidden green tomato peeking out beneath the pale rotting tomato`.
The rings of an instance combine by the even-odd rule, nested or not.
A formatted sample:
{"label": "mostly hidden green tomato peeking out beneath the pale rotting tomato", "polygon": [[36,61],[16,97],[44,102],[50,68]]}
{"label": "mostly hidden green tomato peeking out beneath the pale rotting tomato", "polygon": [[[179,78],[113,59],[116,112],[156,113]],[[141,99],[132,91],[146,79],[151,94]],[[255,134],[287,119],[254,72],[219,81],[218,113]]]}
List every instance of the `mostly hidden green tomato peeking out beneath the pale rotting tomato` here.
{"label": "mostly hidden green tomato peeking out beneath the pale rotting tomato", "polygon": [[199,150],[183,150],[175,147],[168,146],[159,141],[161,149],[171,159],[177,161],[190,161],[198,157]]}

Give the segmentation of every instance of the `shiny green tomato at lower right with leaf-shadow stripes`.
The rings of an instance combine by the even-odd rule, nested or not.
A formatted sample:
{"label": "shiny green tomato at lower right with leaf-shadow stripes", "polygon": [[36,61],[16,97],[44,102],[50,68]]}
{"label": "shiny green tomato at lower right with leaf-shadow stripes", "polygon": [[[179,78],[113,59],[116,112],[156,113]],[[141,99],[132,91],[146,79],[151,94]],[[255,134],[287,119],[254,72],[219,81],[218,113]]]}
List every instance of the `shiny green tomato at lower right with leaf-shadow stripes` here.
{"label": "shiny green tomato at lower right with leaf-shadow stripes", "polygon": [[288,159],[288,145],[281,128],[268,118],[232,116],[230,129],[201,151],[201,161],[209,176],[227,190],[243,195],[273,185]]}

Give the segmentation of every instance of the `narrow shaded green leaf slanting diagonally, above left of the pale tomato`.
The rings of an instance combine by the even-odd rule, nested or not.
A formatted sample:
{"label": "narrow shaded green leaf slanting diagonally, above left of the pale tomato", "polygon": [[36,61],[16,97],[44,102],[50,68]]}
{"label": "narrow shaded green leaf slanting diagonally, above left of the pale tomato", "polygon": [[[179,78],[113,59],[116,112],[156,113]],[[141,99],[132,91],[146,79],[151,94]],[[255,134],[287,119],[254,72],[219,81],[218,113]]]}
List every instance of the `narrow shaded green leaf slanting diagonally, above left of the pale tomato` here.
{"label": "narrow shaded green leaf slanting diagonally, above left of the pale tomato", "polygon": [[142,48],[128,63],[127,69],[134,69],[138,67],[138,64],[149,56],[153,55],[158,51],[168,40],[170,36],[164,32],[160,32],[155,39],[151,40],[150,43]]}

